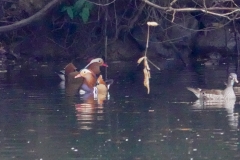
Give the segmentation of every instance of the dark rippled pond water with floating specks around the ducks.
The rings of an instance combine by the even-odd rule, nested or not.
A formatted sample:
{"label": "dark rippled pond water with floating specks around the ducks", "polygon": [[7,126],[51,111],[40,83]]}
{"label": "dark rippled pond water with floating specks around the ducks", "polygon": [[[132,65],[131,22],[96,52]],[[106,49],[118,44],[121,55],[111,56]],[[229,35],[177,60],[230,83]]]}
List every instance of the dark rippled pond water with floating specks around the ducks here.
{"label": "dark rippled pond water with floating specks around the ducks", "polygon": [[149,95],[142,71],[119,65],[109,64],[114,83],[103,104],[66,94],[54,73],[59,64],[2,69],[0,159],[240,159],[239,94],[233,103],[201,106],[186,90],[224,88],[234,65],[153,70]]}

